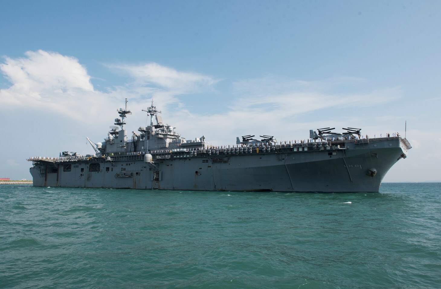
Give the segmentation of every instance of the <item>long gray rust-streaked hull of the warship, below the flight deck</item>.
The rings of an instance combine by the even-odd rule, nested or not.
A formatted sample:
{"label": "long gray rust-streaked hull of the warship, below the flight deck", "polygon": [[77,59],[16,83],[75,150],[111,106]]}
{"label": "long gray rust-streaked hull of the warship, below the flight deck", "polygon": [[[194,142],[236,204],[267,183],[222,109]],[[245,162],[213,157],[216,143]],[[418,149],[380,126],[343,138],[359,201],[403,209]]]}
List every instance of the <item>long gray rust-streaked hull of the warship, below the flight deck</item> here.
{"label": "long gray rust-streaked hull of the warship, below the flight deck", "polygon": [[[340,141],[253,148],[236,154],[167,152],[113,158],[33,160],[34,186],[280,192],[378,192],[411,148],[406,139]],[[251,153],[249,153],[251,152]],[[99,164],[99,165],[97,165]],[[70,166],[69,166],[70,165]]]}

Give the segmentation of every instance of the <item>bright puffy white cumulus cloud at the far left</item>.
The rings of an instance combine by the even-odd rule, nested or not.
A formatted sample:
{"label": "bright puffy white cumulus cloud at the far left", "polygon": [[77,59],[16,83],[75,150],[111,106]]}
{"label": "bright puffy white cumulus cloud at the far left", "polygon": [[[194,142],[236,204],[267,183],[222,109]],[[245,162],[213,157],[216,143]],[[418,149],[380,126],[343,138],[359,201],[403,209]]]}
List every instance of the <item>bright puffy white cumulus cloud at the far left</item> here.
{"label": "bright puffy white cumulus cloud at the far left", "polygon": [[6,57],[0,64],[2,74],[12,84],[0,90],[4,103],[78,118],[80,110],[75,108],[84,107],[86,101],[96,104],[102,100],[78,59],[43,50],[25,55],[16,59]]}

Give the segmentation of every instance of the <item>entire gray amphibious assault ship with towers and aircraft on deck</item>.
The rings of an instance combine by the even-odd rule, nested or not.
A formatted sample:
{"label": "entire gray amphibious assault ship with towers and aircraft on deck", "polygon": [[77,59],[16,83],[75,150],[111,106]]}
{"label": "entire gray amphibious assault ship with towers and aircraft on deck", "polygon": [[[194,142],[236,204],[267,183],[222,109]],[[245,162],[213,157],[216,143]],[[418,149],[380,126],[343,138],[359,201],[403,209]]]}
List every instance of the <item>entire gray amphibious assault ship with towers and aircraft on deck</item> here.
{"label": "entire gray amphibious assault ship with towers and aircraft on deck", "polygon": [[[235,145],[213,146],[205,136],[186,140],[164,123],[153,100],[150,125],[127,135],[131,111],[117,110],[107,137],[95,154],[61,152],[30,157],[34,186],[168,190],[280,192],[378,192],[385,174],[411,145],[398,134],[364,138],[360,129],[310,130],[305,141],[273,136],[238,137]],[[153,118],[156,123],[153,124]]]}

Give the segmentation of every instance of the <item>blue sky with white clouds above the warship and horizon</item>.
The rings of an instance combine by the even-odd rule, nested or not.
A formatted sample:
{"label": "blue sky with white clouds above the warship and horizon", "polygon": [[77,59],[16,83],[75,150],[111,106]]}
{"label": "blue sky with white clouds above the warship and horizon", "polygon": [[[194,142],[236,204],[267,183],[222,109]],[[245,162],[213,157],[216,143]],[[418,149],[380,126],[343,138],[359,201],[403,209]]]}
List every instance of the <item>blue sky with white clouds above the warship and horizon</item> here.
{"label": "blue sky with white clouds above the warship and horizon", "polygon": [[413,145],[386,182],[441,181],[440,1],[1,1],[0,177],[92,153],[129,99],[183,137],[360,127]]}

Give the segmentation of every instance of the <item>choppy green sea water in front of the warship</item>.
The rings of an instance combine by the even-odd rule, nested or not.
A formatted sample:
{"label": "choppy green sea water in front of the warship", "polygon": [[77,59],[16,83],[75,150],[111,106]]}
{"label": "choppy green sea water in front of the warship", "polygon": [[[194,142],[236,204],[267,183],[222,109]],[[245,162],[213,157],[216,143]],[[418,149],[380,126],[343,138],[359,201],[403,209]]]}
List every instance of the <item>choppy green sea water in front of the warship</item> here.
{"label": "choppy green sea water in front of the warship", "polygon": [[0,288],[440,288],[440,191],[0,185]]}

